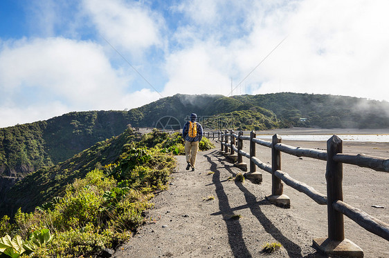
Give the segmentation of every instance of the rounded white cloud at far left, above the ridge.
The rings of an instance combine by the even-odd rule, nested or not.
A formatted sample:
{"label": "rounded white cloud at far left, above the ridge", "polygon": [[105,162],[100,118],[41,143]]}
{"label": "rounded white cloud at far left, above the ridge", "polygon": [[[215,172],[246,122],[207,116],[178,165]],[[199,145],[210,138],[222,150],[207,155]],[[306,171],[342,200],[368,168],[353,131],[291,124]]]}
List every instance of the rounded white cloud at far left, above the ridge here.
{"label": "rounded white cloud at far left, above the ridge", "polygon": [[118,76],[100,46],[92,42],[24,40],[0,54],[0,89],[42,88],[48,97],[60,97],[78,108],[103,106],[127,80]]}

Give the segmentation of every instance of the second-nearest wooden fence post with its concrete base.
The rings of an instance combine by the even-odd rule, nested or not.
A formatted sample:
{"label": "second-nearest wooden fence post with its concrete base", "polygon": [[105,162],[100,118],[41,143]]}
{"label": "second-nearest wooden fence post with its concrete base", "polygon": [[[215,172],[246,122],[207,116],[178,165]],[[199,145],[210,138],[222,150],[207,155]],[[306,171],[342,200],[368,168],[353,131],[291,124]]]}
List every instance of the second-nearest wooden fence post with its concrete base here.
{"label": "second-nearest wooden fence post with its concrete base", "polygon": [[271,195],[267,196],[266,199],[276,206],[290,208],[291,200],[287,195],[282,194],[284,185],[281,179],[274,175],[275,171],[281,170],[281,152],[275,148],[275,144],[281,143],[281,141],[282,139],[279,135],[273,135],[271,141]]}

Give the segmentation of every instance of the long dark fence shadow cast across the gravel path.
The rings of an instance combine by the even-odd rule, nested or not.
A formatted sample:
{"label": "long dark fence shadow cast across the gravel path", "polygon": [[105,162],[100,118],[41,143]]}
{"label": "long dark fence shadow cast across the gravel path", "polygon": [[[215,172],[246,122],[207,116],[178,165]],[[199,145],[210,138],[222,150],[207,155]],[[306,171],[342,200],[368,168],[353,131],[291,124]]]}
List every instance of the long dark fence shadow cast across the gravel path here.
{"label": "long dark fence shadow cast across the gravel path", "polygon": [[[262,212],[260,206],[271,205],[270,202],[265,199],[262,201],[257,201],[255,195],[248,191],[247,188],[244,187],[244,185],[238,181],[235,181],[235,184],[239,188],[239,190],[243,192],[244,197],[246,199],[246,204],[235,208],[230,207],[230,205],[228,204],[226,193],[224,192],[223,186],[221,185],[220,171],[216,169],[218,168],[217,163],[215,161],[212,161],[212,157],[217,158],[218,161],[225,161],[224,156],[218,155],[217,152],[218,151],[215,151],[211,152],[209,155],[204,155],[204,157],[206,157],[206,159],[211,164],[211,171],[215,172],[212,181],[215,184],[217,197],[219,198],[220,211],[212,215],[223,215],[228,228],[228,238],[230,247],[233,250],[235,257],[251,257],[251,255],[248,252],[246,245],[244,244],[244,240],[242,238],[242,226],[239,224],[239,220],[232,221],[230,220],[230,216],[226,215],[233,215],[233,212],[235,210],[241,210],[244,208],[249,208],[251,210],[251,213],[257,218],[258,221],[260,221],[260,224],[262,224],[264,230],[266,230],[266,232],[268,232],[275,240],[277,240],[278,242],[280,242],[280,244],[282,244],[282,246],[284,246],[285,250],[287,250],[288,252],[289,257],[302,257],[300,246],[282,235],[282,232],[280,232],[280,230],[276,228],[270,221],[270,219],[268,219],[266,215],[264,215],[264,213]],[[220,163],[221,162],[219,162],[219,164]],[[228,164],[224,165],[224,169],[230,172],[230,174],[235,175],[235,173],[233,172],[233,170],[231,170]],[[238,247],[239,250],[237,250]],[[316,253],[308,255],[307,257],[325,256]]]}

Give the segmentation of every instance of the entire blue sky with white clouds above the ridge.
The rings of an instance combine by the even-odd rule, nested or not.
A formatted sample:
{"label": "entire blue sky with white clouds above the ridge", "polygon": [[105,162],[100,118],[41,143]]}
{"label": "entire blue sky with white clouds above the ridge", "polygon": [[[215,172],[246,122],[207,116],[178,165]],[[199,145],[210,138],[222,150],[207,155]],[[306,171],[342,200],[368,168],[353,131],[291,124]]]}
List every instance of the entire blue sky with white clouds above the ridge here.
{"label": "entire blue sky with white clouds above the ridge", "polygon": [[387,10],[384,0],[1,0],[0,127],[177,93],[389,101]]}

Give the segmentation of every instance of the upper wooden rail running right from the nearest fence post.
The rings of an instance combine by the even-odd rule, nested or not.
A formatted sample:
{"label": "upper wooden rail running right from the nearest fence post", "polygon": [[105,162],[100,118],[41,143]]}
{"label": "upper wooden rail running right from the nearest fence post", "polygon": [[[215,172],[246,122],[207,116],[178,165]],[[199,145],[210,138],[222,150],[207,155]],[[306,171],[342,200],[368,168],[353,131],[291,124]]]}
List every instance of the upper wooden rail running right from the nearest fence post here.
{"label": "upper wooden rail running right from the nearest fence post", "polygon": [[352,164],[364,168],[372,168],[377,171],[389,172],[389,159],[379,157],[370,157],[364,154],[336,154],[333,157],[334,161]]}

